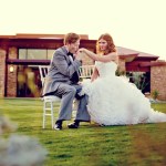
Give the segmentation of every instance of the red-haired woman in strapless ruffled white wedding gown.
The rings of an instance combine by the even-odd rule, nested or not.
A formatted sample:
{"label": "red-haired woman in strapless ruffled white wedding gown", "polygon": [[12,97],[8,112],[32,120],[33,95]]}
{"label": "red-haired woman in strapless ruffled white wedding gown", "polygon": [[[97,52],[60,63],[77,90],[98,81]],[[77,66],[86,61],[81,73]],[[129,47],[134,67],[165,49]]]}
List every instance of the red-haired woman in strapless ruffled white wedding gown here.
{"label": "red-haired woman in strapless ruffled white wedding gown", "polygon": [[87,111],[100,125],[126,125],[166,122],[166,114],[151,108],[148,98],[132,83],[115,75],[118,56],[110,34],[102,34],[97,54],[80,49],[95,61],[91,82],[83,83],[82,94],[89,95]]}

